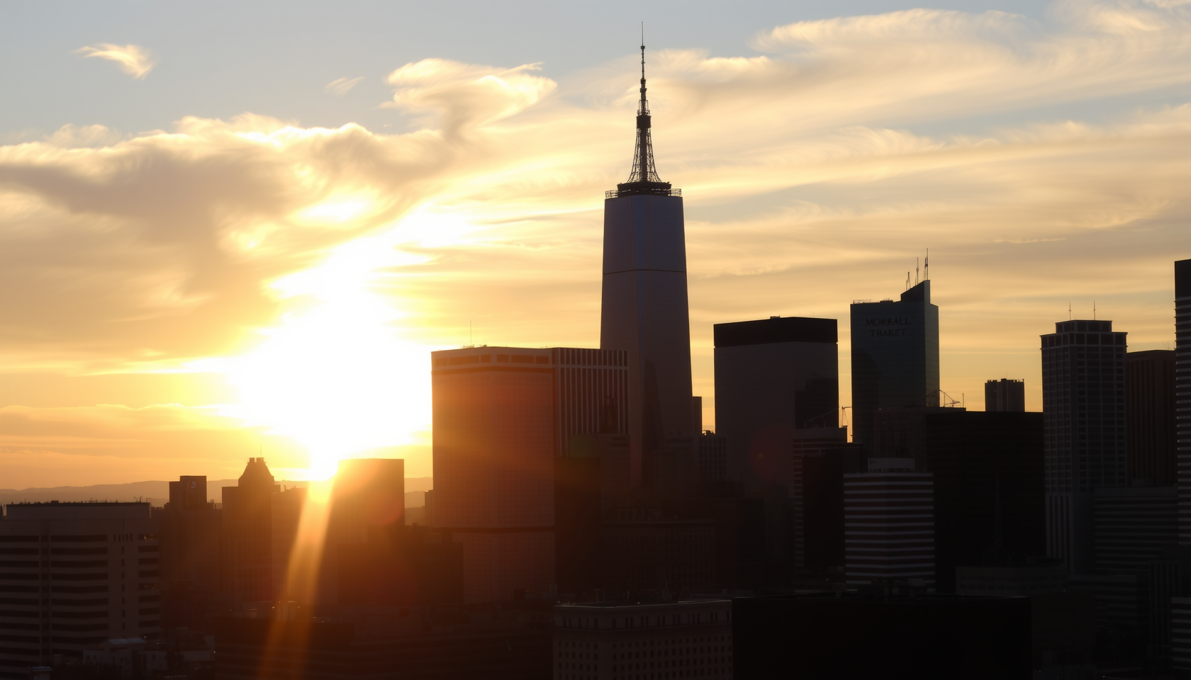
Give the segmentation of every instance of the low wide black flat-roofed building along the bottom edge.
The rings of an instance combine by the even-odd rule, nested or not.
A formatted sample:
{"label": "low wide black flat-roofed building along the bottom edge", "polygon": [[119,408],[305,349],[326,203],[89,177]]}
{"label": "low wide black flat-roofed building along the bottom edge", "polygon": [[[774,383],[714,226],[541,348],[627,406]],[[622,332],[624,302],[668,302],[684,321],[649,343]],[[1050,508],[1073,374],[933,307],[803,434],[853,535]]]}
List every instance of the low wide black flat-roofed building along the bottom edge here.
{"label": "low wide black flat-roofed building along the bottom edge", "polygon": [[735,678],[1031,678],[1028,598],[888,593],[734,599]]}

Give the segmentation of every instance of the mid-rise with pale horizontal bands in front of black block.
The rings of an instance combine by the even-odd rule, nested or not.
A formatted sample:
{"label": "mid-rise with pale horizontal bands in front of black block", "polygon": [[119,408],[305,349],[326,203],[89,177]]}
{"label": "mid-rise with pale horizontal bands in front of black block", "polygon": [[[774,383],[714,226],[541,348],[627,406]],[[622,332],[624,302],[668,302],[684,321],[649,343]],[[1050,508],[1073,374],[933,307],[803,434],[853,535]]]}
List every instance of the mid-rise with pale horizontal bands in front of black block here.
{"label": "mid-rise with pale horizontal bands in front of black block", "polygon": [[933,475],[913,472],[909,458],[869,458],[868,469],[843,475],[848,585],[899,580],[934,589]]}

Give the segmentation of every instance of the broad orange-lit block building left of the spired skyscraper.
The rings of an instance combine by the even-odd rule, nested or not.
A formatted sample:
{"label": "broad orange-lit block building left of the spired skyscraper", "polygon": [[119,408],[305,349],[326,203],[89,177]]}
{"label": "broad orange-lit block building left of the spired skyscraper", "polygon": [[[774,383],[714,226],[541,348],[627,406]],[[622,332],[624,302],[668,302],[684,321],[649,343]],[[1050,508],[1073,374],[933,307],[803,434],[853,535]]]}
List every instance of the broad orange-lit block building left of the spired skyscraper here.
{"label": "broad orange-lit block building left of the spired skyscraper", "polygon": [[[431,357],[434,523],[463,544],[466,601],[555,587],[557,458],[573,436],[626,433],[628,353],[479,347]],[[690,417],[690,394],[684,405]]]}

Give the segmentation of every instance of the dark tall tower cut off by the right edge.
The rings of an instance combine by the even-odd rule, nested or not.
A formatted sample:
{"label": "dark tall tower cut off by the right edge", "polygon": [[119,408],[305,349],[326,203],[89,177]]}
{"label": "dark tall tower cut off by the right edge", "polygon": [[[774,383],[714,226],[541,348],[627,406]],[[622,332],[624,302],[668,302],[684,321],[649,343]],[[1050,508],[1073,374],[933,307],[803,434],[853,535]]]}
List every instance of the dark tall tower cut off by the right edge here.
{"label": "dark tall tower cut off by the right edge", "polygon": [[1191,543],[1191,260],[1174,263],[1174,408],[1179,541]]}

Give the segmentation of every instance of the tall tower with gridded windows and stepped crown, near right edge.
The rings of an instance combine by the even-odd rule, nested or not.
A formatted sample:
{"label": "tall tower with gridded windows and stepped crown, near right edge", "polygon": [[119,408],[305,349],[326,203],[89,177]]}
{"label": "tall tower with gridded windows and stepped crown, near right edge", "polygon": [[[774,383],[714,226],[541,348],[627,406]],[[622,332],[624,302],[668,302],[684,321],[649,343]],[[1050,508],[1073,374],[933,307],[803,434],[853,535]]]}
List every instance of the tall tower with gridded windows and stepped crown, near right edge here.
{"label": "tall tower with gridded windows and stepped crown, near right edge", "polygon": [[1092,492],[1129,485],[1125,335],[1075,319],[1042,336],[1047,550],[1073,574],[1093,569]]}

